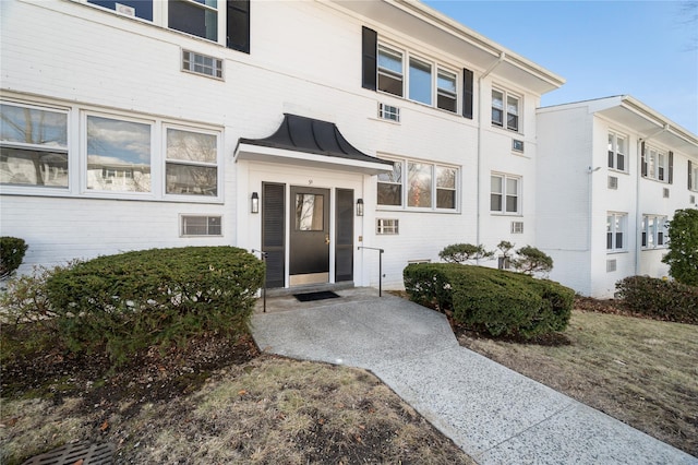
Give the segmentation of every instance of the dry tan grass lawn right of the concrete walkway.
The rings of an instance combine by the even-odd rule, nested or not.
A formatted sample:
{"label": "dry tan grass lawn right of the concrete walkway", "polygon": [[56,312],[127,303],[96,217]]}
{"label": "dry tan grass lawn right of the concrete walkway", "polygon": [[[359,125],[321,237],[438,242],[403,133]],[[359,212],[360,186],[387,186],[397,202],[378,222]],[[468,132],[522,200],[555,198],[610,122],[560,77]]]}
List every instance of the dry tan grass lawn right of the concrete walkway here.
{"label": "dry tan grass lawn right of the concrete walkway", "polygon": [[478,351],[698,456],[698,326],[575,310],[562,344],[461,331]]}

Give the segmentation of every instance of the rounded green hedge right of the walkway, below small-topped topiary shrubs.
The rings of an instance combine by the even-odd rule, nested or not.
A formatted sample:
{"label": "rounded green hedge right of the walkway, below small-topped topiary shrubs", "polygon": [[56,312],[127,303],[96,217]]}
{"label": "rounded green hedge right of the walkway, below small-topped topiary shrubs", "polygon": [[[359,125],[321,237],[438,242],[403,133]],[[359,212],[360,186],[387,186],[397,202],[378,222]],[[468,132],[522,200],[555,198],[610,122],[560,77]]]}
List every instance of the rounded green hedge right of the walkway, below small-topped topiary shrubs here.
{"label": "rounded green hedge right of the walkway, below small-topped topiary shrubs", "polygon": [[563,331],[575,298],[557,283],[483,266],[410,264],[404,278],[412,301],[453,311],[456,322],[493,336],[532,338]]}

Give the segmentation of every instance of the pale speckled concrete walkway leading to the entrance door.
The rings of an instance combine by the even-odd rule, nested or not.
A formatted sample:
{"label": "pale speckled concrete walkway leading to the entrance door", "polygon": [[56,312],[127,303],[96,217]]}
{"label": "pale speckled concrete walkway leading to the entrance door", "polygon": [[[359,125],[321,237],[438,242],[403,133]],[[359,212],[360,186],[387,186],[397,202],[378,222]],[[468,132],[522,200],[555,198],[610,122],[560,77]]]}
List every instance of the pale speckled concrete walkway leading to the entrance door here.
{"label": "pale speckled concrete walkway leading to the entrance door", "polygon": [[479,464],[698,464],[618,420],[458,345],[446,318],[374,289],[267,299],[264,351],[360,367]]}

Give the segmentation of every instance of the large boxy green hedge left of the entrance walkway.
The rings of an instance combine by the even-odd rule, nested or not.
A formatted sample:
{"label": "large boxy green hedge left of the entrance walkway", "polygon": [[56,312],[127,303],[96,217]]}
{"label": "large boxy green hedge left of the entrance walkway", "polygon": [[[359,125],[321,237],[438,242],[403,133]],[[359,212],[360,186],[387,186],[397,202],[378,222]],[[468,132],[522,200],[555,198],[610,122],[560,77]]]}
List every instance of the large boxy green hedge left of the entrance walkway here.
{"label": "large boxy green hedge left of the entrance walkway", "polygon": [[248,332],[264,273],[262,261],[232,247],[152,249],[60,270],[47,291],[68,347],[104,348],[119,365],[203,332]]}

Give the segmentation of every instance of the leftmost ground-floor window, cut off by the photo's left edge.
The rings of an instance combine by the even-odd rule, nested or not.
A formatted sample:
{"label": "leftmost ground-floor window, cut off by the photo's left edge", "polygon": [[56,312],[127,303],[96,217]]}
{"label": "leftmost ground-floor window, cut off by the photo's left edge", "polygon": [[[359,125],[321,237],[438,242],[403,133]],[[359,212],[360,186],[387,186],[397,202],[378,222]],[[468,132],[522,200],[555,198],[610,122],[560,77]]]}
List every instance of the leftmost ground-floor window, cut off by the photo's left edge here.
{"label": "leftmost ground-floor window, cut off by the photo's left edge", "polygon": [[68,188],[68,112],[0,104],[0,183]]}

